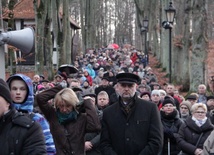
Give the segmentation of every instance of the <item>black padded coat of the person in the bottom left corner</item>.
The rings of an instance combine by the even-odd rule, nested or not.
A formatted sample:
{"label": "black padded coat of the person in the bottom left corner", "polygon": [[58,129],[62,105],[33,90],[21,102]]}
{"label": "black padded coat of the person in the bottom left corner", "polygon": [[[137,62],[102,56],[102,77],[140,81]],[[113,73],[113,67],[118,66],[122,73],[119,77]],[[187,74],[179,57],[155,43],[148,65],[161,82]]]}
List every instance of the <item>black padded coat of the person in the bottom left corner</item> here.
{"label": "black padded coat of the person in the bottom left corner", "polygon": [[45,155],[45,140],[39,124],[10,110],[0,118],[1,155]]}

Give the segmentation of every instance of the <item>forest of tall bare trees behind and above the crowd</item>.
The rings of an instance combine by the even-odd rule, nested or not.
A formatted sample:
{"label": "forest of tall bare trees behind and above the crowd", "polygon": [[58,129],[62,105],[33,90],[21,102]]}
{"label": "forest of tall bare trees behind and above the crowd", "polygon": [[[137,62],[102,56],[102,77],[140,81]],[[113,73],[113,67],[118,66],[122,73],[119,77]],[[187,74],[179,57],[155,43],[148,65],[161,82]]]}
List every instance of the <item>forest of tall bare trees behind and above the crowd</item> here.
{"label": "forest of tall bare trees behind and above the crowd", "polygon": [[[8,2],[12,2],[11,0]],[[163,71],[169,72],[169,31],[162,28],[166,20],[164,9],[172,2],[176,9],[172,29],[172,83],[186,90],[196,90],[200,83],[210,86],[214,70],[213,59],[213,0],[33,0],[36,13],[36,33],[45,40],[37,40],[35,72],[44,70],[42,52],[49,54],[48,66],[52,74],[51,31],[57,39],[60,63],[70,63],[66,55],[71,52],[69,17],[81,27],[79,50],[100,48],[110,43],[134,45],[156,56]],[[3,6],[7,7],[6,1]],[[62,13],[63,29],[58,15]],[[149,20],[147,41],[141,32],[142,21]],[[45,28],[45,29],[44,29]],[[45,42],[45,43],[44,43]],[[46,45],[46,46],[44,46]]]}

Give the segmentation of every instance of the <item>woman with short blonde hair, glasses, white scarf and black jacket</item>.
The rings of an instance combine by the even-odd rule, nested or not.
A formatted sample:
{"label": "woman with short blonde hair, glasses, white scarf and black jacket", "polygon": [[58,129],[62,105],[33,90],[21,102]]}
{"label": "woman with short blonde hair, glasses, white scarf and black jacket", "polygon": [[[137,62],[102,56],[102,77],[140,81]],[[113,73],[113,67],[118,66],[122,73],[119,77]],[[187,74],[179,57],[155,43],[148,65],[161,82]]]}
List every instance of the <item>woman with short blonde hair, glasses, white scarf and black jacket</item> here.
{"label": "woman with short blonde hair, glasses, white scarf and black jacket", "polygon": [[183,154],[201,155],[203,144],[213,130],[213,125],[206,117],[207,107],[203,103],[191,107],[192,116],[185,120],[176,135],[177,143]]}

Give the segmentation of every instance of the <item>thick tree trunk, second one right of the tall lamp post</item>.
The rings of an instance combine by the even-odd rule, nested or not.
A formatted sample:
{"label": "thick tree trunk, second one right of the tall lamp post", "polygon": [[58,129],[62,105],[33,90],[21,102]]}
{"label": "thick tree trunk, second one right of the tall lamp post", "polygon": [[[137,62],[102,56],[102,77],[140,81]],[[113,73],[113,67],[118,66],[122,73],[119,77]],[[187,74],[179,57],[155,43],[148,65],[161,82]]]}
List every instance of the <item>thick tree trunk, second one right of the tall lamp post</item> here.
{"label": "thick tree trunk, second one right of the tall lamp post", "polygon": [[190,57],[190,91],[205,84],[205,59],[207,55],[207,10],[206,0],[193,0],[192,6],[193,48]]}

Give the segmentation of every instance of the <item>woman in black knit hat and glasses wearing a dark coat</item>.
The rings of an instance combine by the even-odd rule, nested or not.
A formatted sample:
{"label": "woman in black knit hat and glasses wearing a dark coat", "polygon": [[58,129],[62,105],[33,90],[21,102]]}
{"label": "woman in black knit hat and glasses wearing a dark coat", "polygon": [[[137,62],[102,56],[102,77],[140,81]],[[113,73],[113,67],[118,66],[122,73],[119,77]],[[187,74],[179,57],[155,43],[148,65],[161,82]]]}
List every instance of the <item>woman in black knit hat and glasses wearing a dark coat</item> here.
{"label": "woman in black knit hat and glasses wearing a dark coat", "polygon": [[[182,121],[180,120],[179,113],[175,107],[175,101],[171,96],[166,96],[164,98],[160,114],[164,131],[162,154],[165,155],[168,150],[170,150],[171,155],[177,155],[180,152],[180,149],[177,147],[174,134],[178,133]],[[170,145],[168,145],[169,143]]]}

